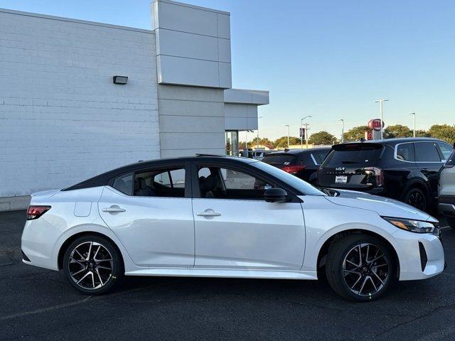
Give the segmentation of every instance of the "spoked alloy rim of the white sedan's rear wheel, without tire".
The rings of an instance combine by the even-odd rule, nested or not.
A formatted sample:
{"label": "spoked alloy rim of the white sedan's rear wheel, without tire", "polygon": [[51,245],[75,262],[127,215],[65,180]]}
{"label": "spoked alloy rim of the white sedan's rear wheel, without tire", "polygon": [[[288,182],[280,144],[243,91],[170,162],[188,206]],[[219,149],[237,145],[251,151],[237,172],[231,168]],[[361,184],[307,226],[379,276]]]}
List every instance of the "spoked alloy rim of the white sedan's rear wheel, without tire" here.
{"label": "spoked alloy rim of the white sedan's rear wheel, without tire", "polygon": [[114,260],[109,250],[98,242],[83,242],[68,259],[71,279],[86,290],[99,289],[112,278]]}

